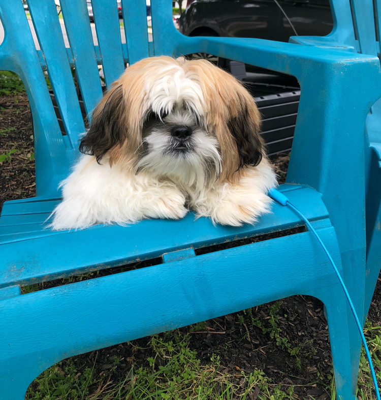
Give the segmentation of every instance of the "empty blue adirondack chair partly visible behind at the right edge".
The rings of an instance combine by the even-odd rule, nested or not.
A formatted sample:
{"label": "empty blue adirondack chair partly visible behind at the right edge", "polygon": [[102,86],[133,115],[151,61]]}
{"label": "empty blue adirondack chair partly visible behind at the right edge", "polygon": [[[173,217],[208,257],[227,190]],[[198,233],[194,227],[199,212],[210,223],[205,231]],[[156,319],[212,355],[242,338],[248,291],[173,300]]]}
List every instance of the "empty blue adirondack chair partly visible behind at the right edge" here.
{"label": "empty blue adirondack chair partly visible behind at the right edge", "polygon": [[[291,37],[290,43],[380,56],[380,0],[375,0],[374,4],[373,0],[331,0],[331,10],[335,26],[330,34],[325,37]],[[381,269],[381,100],[370,109],[364,136],[367,250],[363,323]]]}

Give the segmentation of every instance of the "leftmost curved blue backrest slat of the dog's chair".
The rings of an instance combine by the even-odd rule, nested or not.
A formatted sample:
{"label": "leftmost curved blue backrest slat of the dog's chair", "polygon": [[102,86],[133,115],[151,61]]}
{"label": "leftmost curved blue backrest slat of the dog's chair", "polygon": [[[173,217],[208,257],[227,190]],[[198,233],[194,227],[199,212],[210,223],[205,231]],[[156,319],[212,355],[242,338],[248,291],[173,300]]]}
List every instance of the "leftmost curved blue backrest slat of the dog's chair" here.
{"label": "leftmost curved blue backrest slat of the dog's chair", "polygon": [[0,69],[20,76],[28,94],[35,130],[36,192],[54,191],[70,162],[50,100],[44,72],[22,3],[2,2],[5,38],[0,45]]}

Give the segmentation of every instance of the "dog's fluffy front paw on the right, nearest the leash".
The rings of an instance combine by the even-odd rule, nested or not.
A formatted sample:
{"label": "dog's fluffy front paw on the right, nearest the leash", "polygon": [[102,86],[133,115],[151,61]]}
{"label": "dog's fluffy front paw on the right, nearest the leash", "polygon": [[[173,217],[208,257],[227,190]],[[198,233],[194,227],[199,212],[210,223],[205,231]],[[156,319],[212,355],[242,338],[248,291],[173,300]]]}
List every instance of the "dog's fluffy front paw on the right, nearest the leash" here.
{"label": "dog's fluffy front paw on the right, nearest the leash", "polygon": [[212,210],[210,217],[213,223],[221,225],[239,227],[253,224],[260,215],[269,211],[270,202],[270,198],[263,193],[226,199]]}

